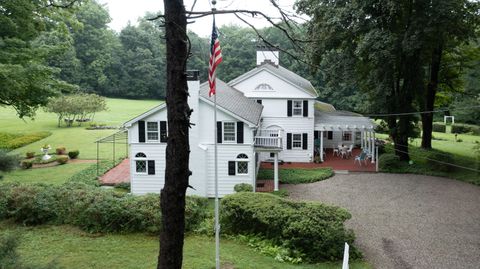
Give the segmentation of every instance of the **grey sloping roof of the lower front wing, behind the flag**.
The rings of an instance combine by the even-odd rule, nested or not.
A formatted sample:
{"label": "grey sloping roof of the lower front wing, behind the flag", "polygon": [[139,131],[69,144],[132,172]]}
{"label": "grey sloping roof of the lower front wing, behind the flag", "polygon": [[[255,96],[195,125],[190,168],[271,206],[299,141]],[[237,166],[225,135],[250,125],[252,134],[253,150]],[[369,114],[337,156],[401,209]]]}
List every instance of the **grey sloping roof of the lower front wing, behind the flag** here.
{"label": "grey sloping roof of the lower front wing, behind the flag", "polygon": [[[262,116],[263,106],[256,101],[248,99],[245,95],[217,78],[217,105],[230,111],[236,116],[257,125]],[[200,85],[200,96],[213,102],[213,96],[209,97],[208,82]]]}

